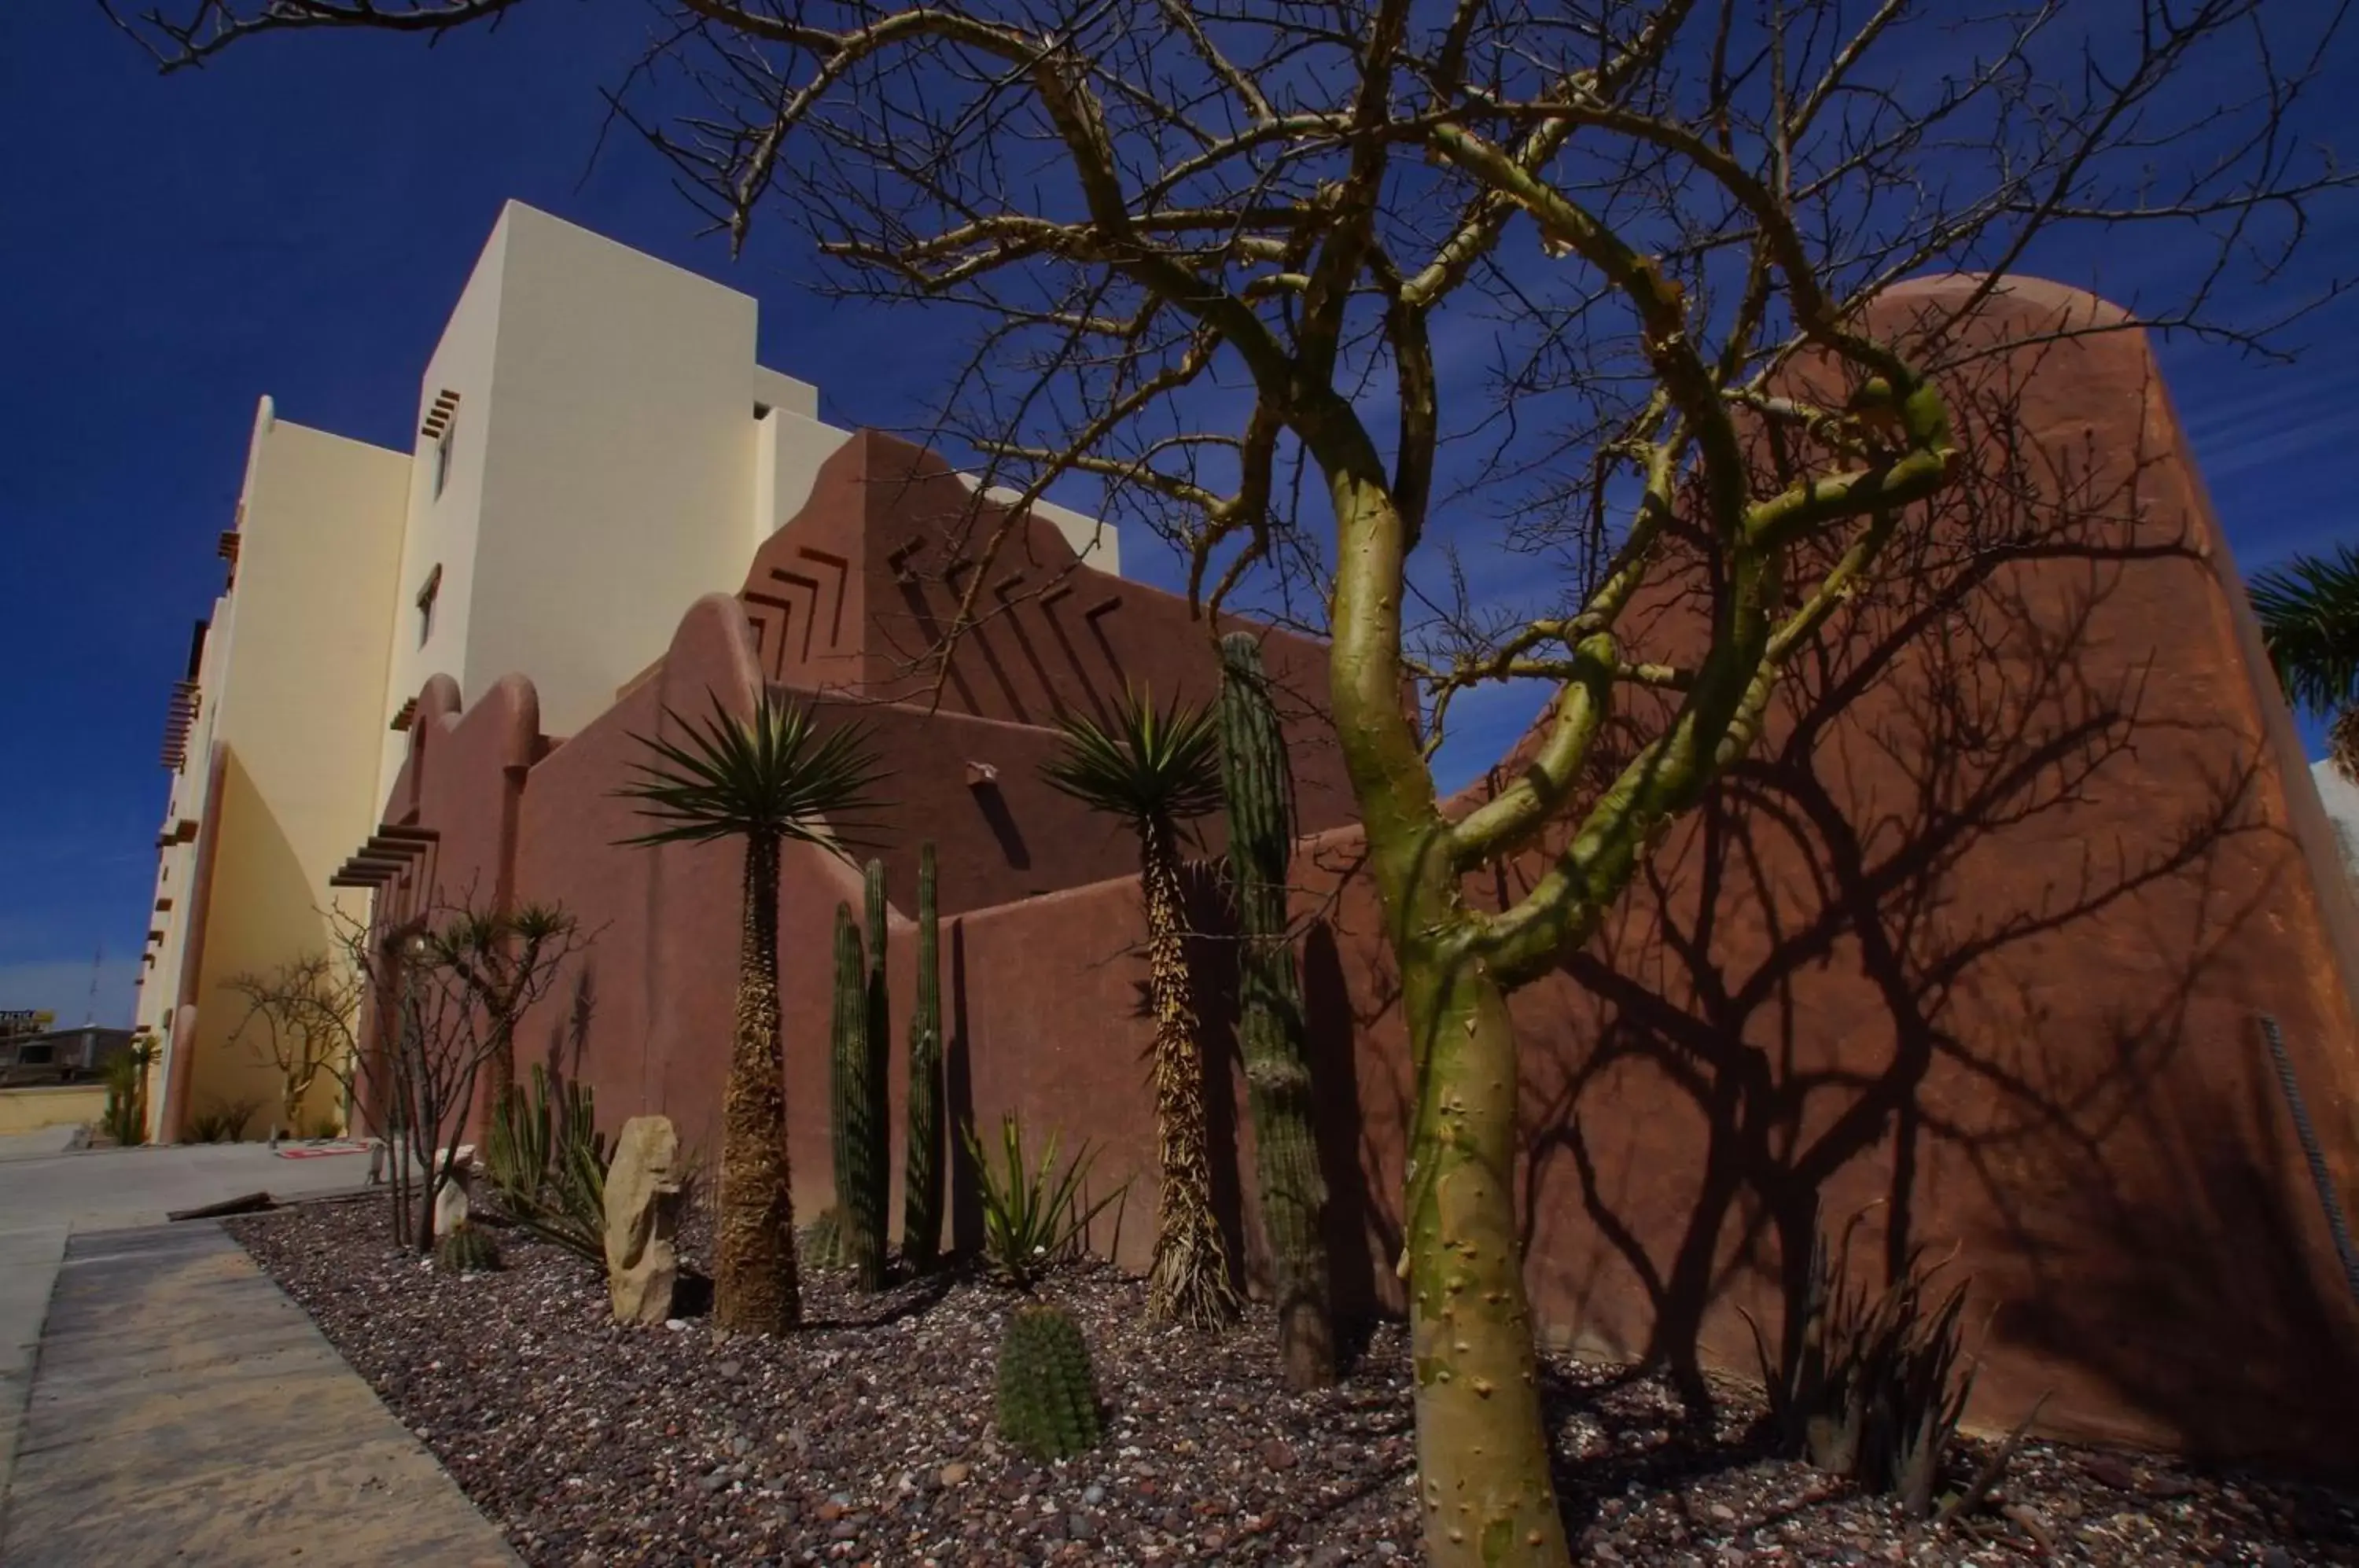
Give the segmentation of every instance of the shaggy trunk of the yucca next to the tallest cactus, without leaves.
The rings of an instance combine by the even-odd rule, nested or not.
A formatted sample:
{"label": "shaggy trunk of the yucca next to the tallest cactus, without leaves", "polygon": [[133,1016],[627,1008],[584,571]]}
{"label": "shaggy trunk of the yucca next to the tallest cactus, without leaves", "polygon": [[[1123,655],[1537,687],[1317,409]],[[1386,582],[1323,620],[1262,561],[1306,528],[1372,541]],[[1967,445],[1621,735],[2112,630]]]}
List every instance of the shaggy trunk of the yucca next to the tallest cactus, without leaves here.
{"label": "shaggy trunk of the yucca next to the tallest cactus, without leaves", "polygon": [[1158,1318],[1210,1327],[1236,1316],[1236,1287],[1213,1217],[1203,1052],[1189,995],[1180,844],[1170,823],[1139,830],[1139,879],[1146,894],[1146,983],[1156,1009],[1156,1153],[1163,1177],[1146,1306]]}

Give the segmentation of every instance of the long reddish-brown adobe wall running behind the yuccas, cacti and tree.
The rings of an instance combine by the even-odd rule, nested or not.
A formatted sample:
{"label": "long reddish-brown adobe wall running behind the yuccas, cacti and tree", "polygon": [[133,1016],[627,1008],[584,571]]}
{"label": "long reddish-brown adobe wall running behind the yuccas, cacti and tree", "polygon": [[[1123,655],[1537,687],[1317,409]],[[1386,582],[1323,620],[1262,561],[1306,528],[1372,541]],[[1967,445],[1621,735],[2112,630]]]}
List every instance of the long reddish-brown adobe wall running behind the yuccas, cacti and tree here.
{"label": "long reddish-brown adobe wall running behind the yuccas, cacti and tree", "polygon": [[[1875,325],[1901,330],[1944,297],[1956,285],[1899,290]],[[2019,288],[1967,342],[2064,309],[2095,307]],[[2033,439],[1977,441],[1984,469],[1897,547],[1852,634],[1798,663],[1755,757],[1670,835],[1597,941],[1514,1000],[1538,1318],[1592,1351],[1750,1370],[1739,1309],[1774,1330],[1781,1233],[1800,1254],[1814,1200],[1835,1224],[1880,1200],[1864,1276],[1913,1243],[1956,1250],[1951,1273],[1972,1276],[1979,1424],[2010,1424],[2048,1394],[2043,1424],[2059,1434],[2350,1469],[2359,1316],[2255,1014],[2284,1026],[2352,1191],[2354,917],[2217,523],[2130,332],[1986,361],[1953,398],[1963,420],[2005,413]],[[896,450],[866,441],[833,465],[764,561],[835,552],[875,606],[878,575],[840,547],[840,521],[887,490],[875,476]],[[878,538],[878,516],[906,509],[863,512],[854,542]],[[1156,604],[1121,592],[1125,615],[1135,592]],[[1694,613],[1687,599],[1649,606],[1632,651],[1677,658]],[[816,618],[811,630],[816,646]],[[514,894],[597,929],[583,990],[545,1007],[526,1040],[578,1056],[602,1122],[663,1111],[708,1151],[738,865],[731,846],[618,849],[637,823],[611,790],[630,733],[663,705],[696,712],[708,691],[750,703],[771,637],[738,601],[701,601],[658,670],[531,764],[514,809]],[[823,679],[811,665],[786,674]],[[1038,731],[988,712],[993,686],[970,681],[979,714],[866,707],[901,773],[894,896],[906,908],[913,837],[934,835],[955,913],[941,976],[953,1108],[986,1137],[1019,1111],[1036,1134],[1099,1144],[1104,1177],[1137,1181],[1121,1236],[1109,1214],[1097,1243],[1139,1264],[1154,1179],[1128,844],[1017,790]],[[502,705],[486,731],[514,733],[514,700],[486,700]],[[498,842],[514,747],[467,750],[477,714],[441,726],[429,710],[406,788],[443,830],[448,877],[481,854],[458,844]],[[1007,750],[972,757],[984,747]],[[960,799],[970,757],[1000,766],[1033,868],[1010,865]],[[1330,823],[1314,818],[1328,830],[1295,879],[1333,1238],[1342,1297],[1397,1306],[1408,1054],[1373,894],[1352,870],[1356,830]],[[1512,894],[1536,865],[1526,856],[1470,896]],[[1010,903],[1019,870],[1054,891]],[[811,1214],[833,1186],[828,936],[859,889],[807,849],[788,854],[783,889],[790,1144],[797,1210]],[[1217,929],[1217,915],[1198,924]],[[1217,953],[1205,946],[1215,976]],[[889,960],[899,1028],[913,964],[899,917]],[[1227,997],[1215,983],[1203,1002],[1229,1085],[1215,1094],[1229,1111],[1215,1118],[1222,1210],[1257,1257]],[[899,1075],[899,1040],[894,1056]],[[972,1238],[972,1193],[953,1214]]]}

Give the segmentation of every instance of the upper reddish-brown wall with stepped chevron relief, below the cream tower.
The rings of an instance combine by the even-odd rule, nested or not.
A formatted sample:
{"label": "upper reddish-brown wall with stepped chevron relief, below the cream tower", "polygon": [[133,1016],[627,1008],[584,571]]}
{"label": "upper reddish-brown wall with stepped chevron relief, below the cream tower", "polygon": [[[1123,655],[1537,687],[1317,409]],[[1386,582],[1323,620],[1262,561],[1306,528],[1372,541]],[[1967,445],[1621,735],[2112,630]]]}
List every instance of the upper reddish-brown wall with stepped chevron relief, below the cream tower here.
{"label": "upper reddish-brown wall with stepped chevron relief, below the cream tower", "polygon": [[[970,521],[972,516],[972,521]],[[894,884],[913,887],[918,839],[941,854],[941,908],[962,913],[1135,870],[1135,846],[1109,823],[1040,783],[1059,712],[1106,722],[1125,684],[1158,705],[1210,703],[1220,691],[1213,639],[1248,622],[1191,620],[1187,601],[1080,566],[1050,523],[1031,521],[1000,549],[977,625],[937,684],[913,670],[958,613],[960,545],[981,552],[1005,512],[979,505],[939,457],[866,431],[819,474],[811,500],[755,552],[741,599],[767,679],[828,693],[828,712],[859,710],[889,771],[875,835]],[[944,575],[951,582],[944,582]],[[1312,832],[1352,821],[1352,792],[1326,722],[1326,646],[1264,627],[1295,766],[1297,811]],[[689,693],[686,712],[703,707]],[[939,696],[939,705],[937,705]],[[965,762],[998,771],[970,790]],[[1201,823],[1208,854],[1222,823]]]}

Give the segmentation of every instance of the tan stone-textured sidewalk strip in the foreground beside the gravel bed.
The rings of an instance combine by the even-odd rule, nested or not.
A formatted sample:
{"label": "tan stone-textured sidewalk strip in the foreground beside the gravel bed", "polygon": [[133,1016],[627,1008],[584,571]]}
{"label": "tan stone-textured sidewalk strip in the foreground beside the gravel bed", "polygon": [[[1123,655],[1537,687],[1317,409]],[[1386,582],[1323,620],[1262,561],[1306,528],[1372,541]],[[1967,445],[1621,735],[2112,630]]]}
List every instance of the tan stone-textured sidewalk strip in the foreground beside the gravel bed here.
{"label": "tan stone-textured sidewalk strip in the foreground beside the gravel bed", "polygon": [[219,1224],[75,1233],[0,1563],[517,1556]]}

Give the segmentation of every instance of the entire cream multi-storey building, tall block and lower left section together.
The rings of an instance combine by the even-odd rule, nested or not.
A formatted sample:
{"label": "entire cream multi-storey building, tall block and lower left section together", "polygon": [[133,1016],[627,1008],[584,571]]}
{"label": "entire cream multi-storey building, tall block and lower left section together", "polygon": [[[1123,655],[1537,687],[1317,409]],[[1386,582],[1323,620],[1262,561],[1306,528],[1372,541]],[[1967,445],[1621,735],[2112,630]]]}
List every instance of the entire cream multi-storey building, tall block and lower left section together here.
{"label": "entire cream multi-storey building, tall block and lower left section together", "polygon": [[[137,1023],[151,1122],[276,1103],[224,990],[328,946],[328,877],[368,839],[418,691],[521,672],[566,736],[658,660],[696,597],[734,589],[852,431],[755,361],[736,290],[507,203],[418,389],[408,453],[255,417],[165,743],[156,915]],[[1040,514],[1118,571],[1113,528]],[[359,903],[342,905],[361,913]],[[321,1089],[311,1115],[335,1108]],[[252,1132],[267,1129],[259,1115]]]}

